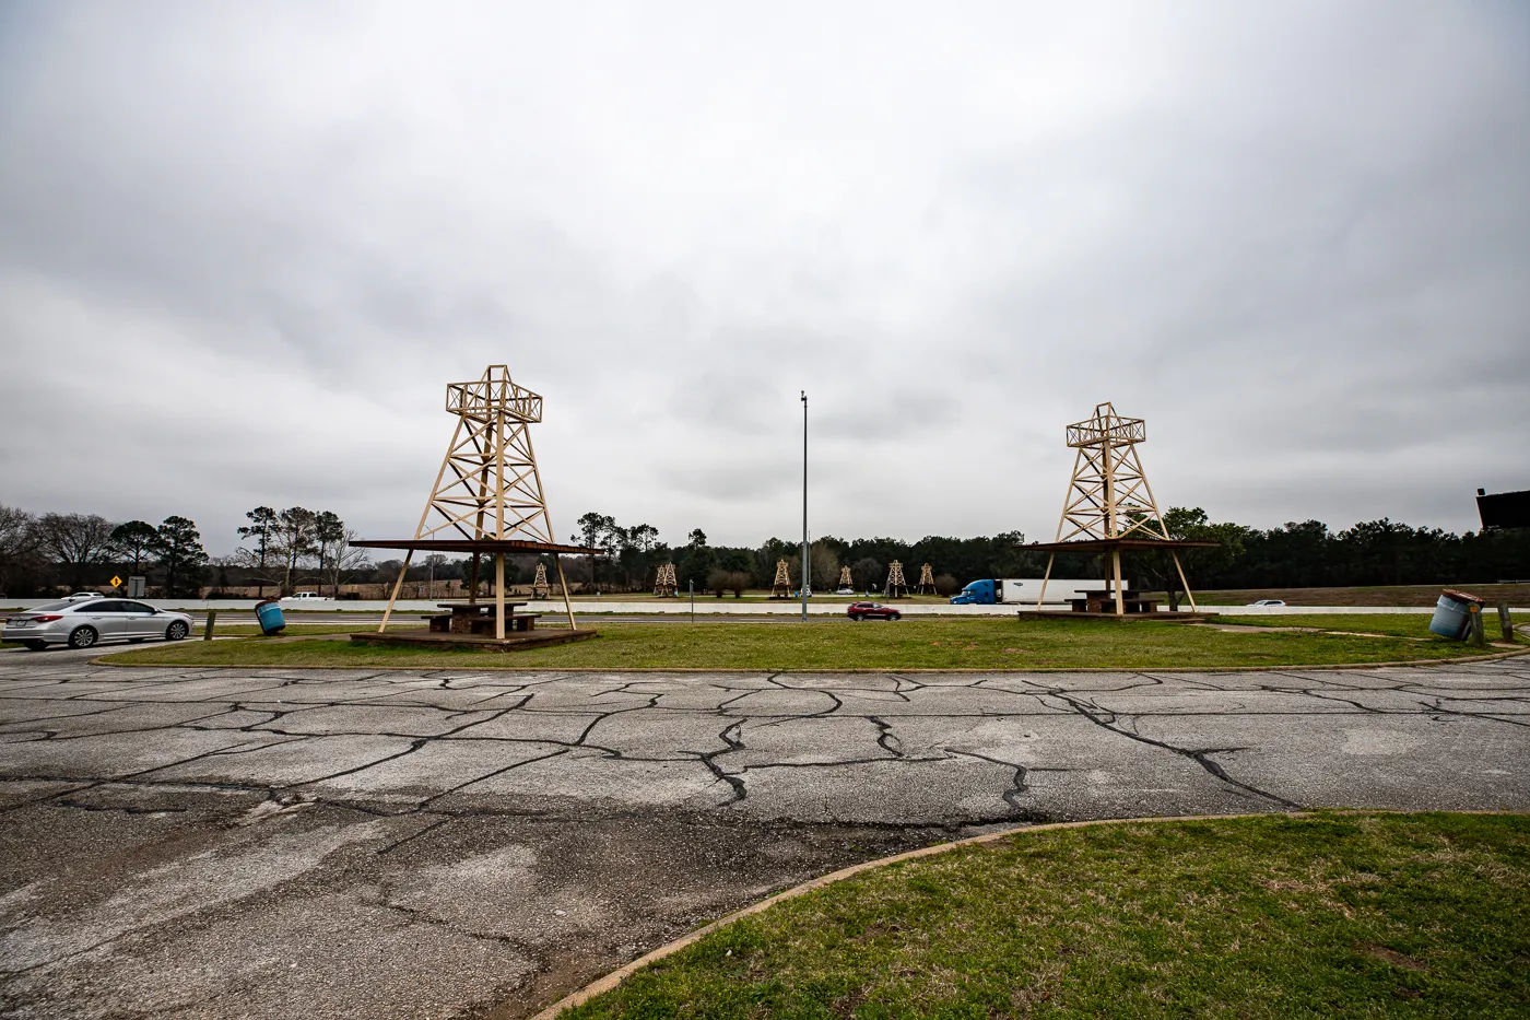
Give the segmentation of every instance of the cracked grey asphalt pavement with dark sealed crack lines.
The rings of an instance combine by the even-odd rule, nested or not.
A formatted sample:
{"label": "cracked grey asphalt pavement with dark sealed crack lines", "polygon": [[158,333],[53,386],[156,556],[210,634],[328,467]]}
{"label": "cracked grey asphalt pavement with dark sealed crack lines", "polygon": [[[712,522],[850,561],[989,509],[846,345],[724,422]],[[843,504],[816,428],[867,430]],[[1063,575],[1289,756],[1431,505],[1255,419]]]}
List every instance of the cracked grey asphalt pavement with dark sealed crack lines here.
{"label": "cracked grey asphalt pavement with dark sealed crack lines", "polygon": [[1530,809],[1530,659],[119,669],[0,654],[0,1014],[514,1018],[780,888],[1036,821]]}

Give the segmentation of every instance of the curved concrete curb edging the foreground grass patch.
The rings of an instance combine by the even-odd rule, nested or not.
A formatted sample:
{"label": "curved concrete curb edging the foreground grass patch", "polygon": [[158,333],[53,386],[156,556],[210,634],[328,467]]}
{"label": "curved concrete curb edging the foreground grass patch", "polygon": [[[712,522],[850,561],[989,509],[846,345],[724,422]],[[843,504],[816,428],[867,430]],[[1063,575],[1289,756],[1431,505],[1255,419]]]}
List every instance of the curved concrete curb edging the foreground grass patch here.
{"label": "curved concrete curb edging the foreground grass patch", "polygon": [[[673,956],[675,953],[679,953],[685,946],[693,945],[695,942],[707,937],[713,931],[716,931],[719,928],[724,928],[727,925],[731,925],[736,920],[742,920],[744,917],[750,917],[753,914],[757,914],[757,913],[762,913],[765,910],[770,910],[776,904],[785,902],[788,899],[796,899],[799,896],[803,896],[805,893],[811,893],[814,890],[820,890],[825,885],[832,885],[834,882],[842,882],[842,881],[845,881],[845,879],[848,879],[848,878],[851,878],[854,875],[860,875],[861,871],[871,871],[874,868],[887,867],[889,864],[900,864],[903,861],[913,861],[916,858],[929,858],[929,856],[935,856],[938,853],[946,853],[949,850],[959,850],[962,847],[973,847],[973,845],[981,845],[981,844],[987,844],[987,842],[998,842],[999,839],[1008,839],[1010,836],[1030,835],[1033,832],[1056,832],[1059,829],[1091,829],[1091,827],[1095,827],[1095,825],[1137,825],[1137,824],[1152,824],[1152,825],[1157,825],[1157,824],[1161,824],[1161,822],[1229,821],[1229,819],[1236,819],[1236,818],[1268,818],[1271,815],[1281,815],[1281,813],[1282,812],[1259,812],[1259,813],[1248,813],[1248,815],[1170,815],[1170,816],[1158,816],[1158,818],[1099,818],[1099,819],[1076,821],[1076,822],[1048,822],[1048,824],[1043,824],[1043,825],[1016,825],[1014,829],[1005,829],[1005,830],[1001,830],[1001,832],[990,832],[990,833],[984,833],[981,836],[968,836],[967,839],[955,839],[952,842],[941,842],[941,844],[936,844],[933,847],[923,847],[920,850],[907,850],[904,853],[895,853],[890,858],[881,858],[878,861],[864,861],[861,864],[854,864],[854,865],[851,865],[848,868],[840,868],[838,871],[831,871],[829,875],[823,875],[820,878],[809,879],[809,881],[803,882],[802,885],[794,885],[793,888],[788,888],[783,893],[776,893],[774,896],[771,896],[768,899],[762,899],[760,902],[753,904],[750,907],[745,907],[744,910],[739,910],[736,913],[731,913],[727,917],[719,917],[718,920],[713,920],[711,924],[708,924],[708,925],[705,925],[702,928],[698,928],[696,931],[692,931],[690,934],[682,936],[682,937],[676,939],[675,942],[670,942],[669,945],[661,945],[659,948],[653,950],[652,953],[646,953],[644,956],[640,956],[638,959],[632,960],[626,966],[623,966],[620,969],[615,969],[615,971],[606,974],[604,977],[600,977],[600,979],[591,982],[589,985],[586,985],[584,988],[580,988],[575,992],[571,992],[571,994],[565,995],[563,999],[557,1000],[555,1003],[552,1003],[551,1006],[548,1006],[542,1012],[539,1012],[534,1017],[531,1017],[531,1020],[554,1020],[554,1017],[557,1017],[563,1011],[572,1009],[574,1006],[581,1006],[586,1002],[589,1002],[591,999],[594,999],[595,995],[603,995],[604,992],[609,992],[610,989],[614,989],[618,985],[621,985],[621,982],[627,980],[629,977],[632,977],[632,974],[635,974],[636,971],[643,969],[649,963],[655,963],[658,960],[662,960],[667,956]],[[1354,810],[1346,810],[1346,812],[1327,812],[1327,813],[1340,813],[1340,815],[1415,815],[1415,813],[1432,813],[1432,812],[1391,812],[1391,810],[1354,809]],[[1449,815],[1524,815],[1527,812],[1509,810],[1509,812],[1444,812],[1444,813],[1449,813]],[[1319,812],[1288,812],[1287,813],[1288,818],[1316,818],[1317,815],[1319,815]]]}

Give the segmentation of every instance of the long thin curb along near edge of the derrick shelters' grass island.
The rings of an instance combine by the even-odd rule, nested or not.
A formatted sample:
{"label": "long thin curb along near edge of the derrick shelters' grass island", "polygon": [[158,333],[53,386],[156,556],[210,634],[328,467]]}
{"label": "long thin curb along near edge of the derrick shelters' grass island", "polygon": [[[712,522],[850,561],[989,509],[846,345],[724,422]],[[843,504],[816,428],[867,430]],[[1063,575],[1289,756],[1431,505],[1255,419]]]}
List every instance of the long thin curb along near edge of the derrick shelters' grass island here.
{"label": "long thin curb along near edge of the derrick shelters' grass island", "polygon": [[[314,634],[309,640],[320,640],[326,637],[324,634]],[[1516,655],[1530,655],[1530,648],[1516,648],[1515,651],[1495,652],[1492,655],[1460,655],[1446,659],[1405,659],[1400,662],[1339,662],[1325,663],[1316,666],[1302,665],[1285,665],[1285,666],[1033,666],[1030,669],[994,669],[984,666],[970,666],[965,669],[883,669],[878,666],[871,666],[864,669],[842,669],[842,668],[822,668],[822,669],[771,669],[760,666],[759,669],[739,669],[733,666],[719,668],[702,668],[702,666],[490,666],[480,663],[462,663],[453,662],[442,666],[431,665],[415,665],[415,666],[297,666],[297,665],[282,665],[275,666],[271,663],[214,663],[214,665],[199,665],[188,662],[110,662],[112,657],[125,654],[129,649],[121,652],[110,652],[107,655],[98,655],[89,660],[92,666],[112,666],[115,669],[173,669],[184,666],[187,669],[396,669],[396,671],[419,671],[419,669],[453,669],[456,666],[471,666],[473,669],[493,669],[494,672],[727,672],[727,674],[745,674],[753,675],[759,672],[768,674],[852,674],[852,675],[880,675],[880,674],[967,674],[967,672],[1285,672],[1287,669],[1382,669],[1382,668],[1400,668],[1400,666],[1443,666],[1463,662],[1496,662],[1499,659],[1513,659]],[[139,651],[139,649],[132,649]]]}

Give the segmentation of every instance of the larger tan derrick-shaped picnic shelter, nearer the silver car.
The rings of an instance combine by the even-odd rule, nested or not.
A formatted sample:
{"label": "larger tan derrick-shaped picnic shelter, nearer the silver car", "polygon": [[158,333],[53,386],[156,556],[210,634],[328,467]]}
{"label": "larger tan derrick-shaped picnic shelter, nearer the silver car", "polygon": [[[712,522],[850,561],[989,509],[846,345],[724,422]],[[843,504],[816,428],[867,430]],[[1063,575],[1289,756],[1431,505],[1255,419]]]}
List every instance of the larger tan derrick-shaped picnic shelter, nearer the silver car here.
{"label": "larger tan derrick-shaped picnic shelter, nearer the silver car", "polygon": [[[563,608],[569,628],[574,606],[569,602],[560,553],[598,556],[601,550],[562,545],[554,541],[552,518],[542,493],[542,473],[531,447],[531,426],[542,421],[542,395],[517,384],[509,366],[490,365],[483,375],[467,383],[447,384],[447,412],[457,420],[447,455],[436,472],[436,484],[419,515],[413,539],[356,541],[369,548],[404,548],[404,571],[416,551],[471,553],[470,603],[477,602],[479,557],[494,562],[494,637],[505,637],[505,556],[551,553],[563,588]],[[404,582],[399,571],[393,594],[378,631],[386,631]]]}

